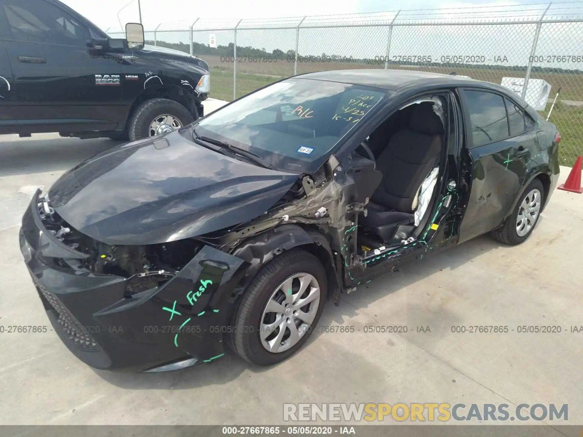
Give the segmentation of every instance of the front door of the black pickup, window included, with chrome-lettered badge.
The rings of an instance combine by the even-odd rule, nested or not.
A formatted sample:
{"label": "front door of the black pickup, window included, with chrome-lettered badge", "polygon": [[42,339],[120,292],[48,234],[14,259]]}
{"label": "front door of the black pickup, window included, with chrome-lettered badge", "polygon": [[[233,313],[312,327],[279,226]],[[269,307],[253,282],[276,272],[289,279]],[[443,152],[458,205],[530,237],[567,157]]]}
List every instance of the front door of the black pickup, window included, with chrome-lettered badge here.
{"label": "front door of the black pickup, window included, with chrome-lettered badge", "polygon": [[[121,103],[121,81],[97,86],[96,75],[121,75],[115,59],[90,54],[92,31],[79,16],[48,0],[0,0],[5,47],[13,73],[19,126],[78,125],[111,129]],[[43,129],[31,129],[42,131]]]}

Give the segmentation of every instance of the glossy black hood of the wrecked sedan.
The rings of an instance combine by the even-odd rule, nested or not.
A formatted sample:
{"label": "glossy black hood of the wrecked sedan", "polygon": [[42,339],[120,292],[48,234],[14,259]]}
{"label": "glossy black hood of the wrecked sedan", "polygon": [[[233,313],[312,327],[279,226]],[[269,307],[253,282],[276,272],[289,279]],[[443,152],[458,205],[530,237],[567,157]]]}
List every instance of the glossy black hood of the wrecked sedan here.
{"label": "glossy black hood of the wrecked sedan", "polygon": [[206,149],[174,131],[89,158],[63,174],[48,196],[59,216],[83,234],[107,244],[145,245],[258,217],[297,179]]}

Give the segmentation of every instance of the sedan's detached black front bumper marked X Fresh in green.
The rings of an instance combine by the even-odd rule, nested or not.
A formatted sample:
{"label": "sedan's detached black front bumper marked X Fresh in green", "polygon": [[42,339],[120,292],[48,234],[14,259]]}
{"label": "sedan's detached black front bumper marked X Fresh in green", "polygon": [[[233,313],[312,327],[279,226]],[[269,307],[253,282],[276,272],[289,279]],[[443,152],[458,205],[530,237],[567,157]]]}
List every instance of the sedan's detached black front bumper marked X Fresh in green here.
{"label": "sedan's detached black front bumper marked X Fresh in green", "polygon": [[24,213],[20,249],[55,332],[98,369],[164,371],[212,361],[248,263],[203,246],[162,286],[128,294],[128,278],[93,273],[89,255],[44,227],[38,190]]}

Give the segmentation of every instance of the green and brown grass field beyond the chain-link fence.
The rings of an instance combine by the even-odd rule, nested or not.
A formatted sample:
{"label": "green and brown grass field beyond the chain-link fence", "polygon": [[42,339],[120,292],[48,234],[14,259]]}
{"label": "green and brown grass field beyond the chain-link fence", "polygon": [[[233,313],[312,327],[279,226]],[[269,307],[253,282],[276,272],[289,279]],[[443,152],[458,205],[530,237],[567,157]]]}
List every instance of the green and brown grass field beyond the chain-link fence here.
{"label": "green and brown grass field beyond the chain-link fence", "polygon": [[[220,57],[205,57],[209,63],[211,77],[211,97],[221,100],[233,100],[233,63],[221,62]],[[352,64],[343,62],[304,62],[298,64],[298,74],[312,71],[371,68],[367,64]],[[524,72],[512,70],[487,70],[472,68],[439,67],[405,67],[391,66],[400,69],[418,69],[436,73],[450,73],[470,76],[478,80],[500,83],[503,76],[524,77]],[[239,62],[237,63],[237,97],[244,96],[266,84],[293,75],[293,62],[281,60],[278,62]],[[544,79],[552,86],[550,97],[553,98],[561,87],[559,99],[555,105],[550,122],[553,122],[561,132],[559,160],[561,165],[571,167],[577,156],[583,155],[583,107],[571,107],[560,103],[560,100],[583,101],[583,75],[571,73],[533,73],[534,79]],[[539,111],[546,118],[550,109]]]}

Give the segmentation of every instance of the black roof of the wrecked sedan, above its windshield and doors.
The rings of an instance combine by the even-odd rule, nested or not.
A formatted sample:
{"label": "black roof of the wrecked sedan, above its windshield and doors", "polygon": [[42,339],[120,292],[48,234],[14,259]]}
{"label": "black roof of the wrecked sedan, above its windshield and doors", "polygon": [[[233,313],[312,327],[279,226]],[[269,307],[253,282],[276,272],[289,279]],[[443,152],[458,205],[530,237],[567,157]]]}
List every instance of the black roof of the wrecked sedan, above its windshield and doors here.
{"label": "black roof of the wrecked sedan, above its windshield and doors", "polygon": [[446,86],[446,87],[480,87],[503,93],[515,100],[522,107],[528,104],[511,90],[496,83],[484,82],[470,77],[444,75],[426,71],[391,70],[391,69],[354,69],[332,70],[305,73],[293,76],[301,79],[329,80],[330,82],[350,83],[353,85],[373,86],[396,91],[409,85],[416,86]]}

